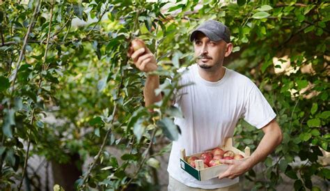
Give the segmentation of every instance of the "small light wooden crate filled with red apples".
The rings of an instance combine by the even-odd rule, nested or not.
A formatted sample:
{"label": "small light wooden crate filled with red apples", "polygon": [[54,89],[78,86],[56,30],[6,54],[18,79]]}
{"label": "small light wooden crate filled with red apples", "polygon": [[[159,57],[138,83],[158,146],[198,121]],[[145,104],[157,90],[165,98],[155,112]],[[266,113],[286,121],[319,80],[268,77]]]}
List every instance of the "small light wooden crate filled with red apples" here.
{"label": "small light wooden crate filled with red apples", "polygon": [[[241,154],[244,156],[244,158],[239,159],[239,160],[246,160],[247,158],[250,157],[250,148],[246,146],[244,149],[244,152],[239,151],[239,149],[233,147],[233,138],[228,137],[225,139],[225,145],[224,146],[219,146],[219,148],[222,148],[223,151],[233,151],[235,154]],[[212,151],[212,150],[207,150],[207,151]],[[204,153],[204,152],[202,152]],[[198,158],[201,156],[202,153],[196,153],[194,155],[189,155],[186,156],[186,151],[185,149],[181,150],[181,158],[180,158],[180,166],[181,169],[184,169],[184,171],[187,171],[191,176],[194,176],[198,181],[206,181],[211,178],[219,176],[221,172],[226,171],[228,169],[228,165],[217,165],[214,167],[208,167],[204,168],[204,162],[203,160],[195,160],[196,164],[196,169],[189,165],[189,163],[186,161],[187,158],[191,156],[197,156]]]}

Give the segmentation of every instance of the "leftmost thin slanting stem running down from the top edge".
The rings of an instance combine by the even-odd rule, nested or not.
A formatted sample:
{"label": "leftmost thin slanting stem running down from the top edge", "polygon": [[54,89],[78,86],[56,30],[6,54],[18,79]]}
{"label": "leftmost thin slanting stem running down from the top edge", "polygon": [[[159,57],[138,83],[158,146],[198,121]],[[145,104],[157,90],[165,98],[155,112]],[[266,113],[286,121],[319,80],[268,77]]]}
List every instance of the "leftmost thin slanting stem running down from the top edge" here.
{"label": "leftmost thin slanting stem running down from the top edge", "polygon": [[20,68],[20,63],[23,59],[23,55],[24,55],[24,52],[25,52],[25,47],[27,45],[27,42],[28,42],[28,39],[29,39],[29,35],[31,33],[31,30],[32,30],[32,26],[33,26],[33,23],[34,23],[34,20],[36,20],[36,17],[39,13],[39,5],[40,5],[40,2],[42,0],[38,1],[37,5],[36,5],[36,8],[34,9],[34,12],[33,12],[33,15],[32,15],[32,18],[31,18],[31,22],[29,24],[29,28],[28,28],[28,31],[26,32],[26,35],[25,35],[25,38],[24,38],[24,43],[23,43],[23,46],[22,46],[22,49],[21,49],[21,52],[19,53],[19,58],[18,58],[18,61],[16,63],[16,66],[15,66],[15,70],[14,70],[14,77],[13,77],[13,82],[11,84],[12,86],[12,94],[14,93],[15,91],[15,81],[17,79],[17,72]]}

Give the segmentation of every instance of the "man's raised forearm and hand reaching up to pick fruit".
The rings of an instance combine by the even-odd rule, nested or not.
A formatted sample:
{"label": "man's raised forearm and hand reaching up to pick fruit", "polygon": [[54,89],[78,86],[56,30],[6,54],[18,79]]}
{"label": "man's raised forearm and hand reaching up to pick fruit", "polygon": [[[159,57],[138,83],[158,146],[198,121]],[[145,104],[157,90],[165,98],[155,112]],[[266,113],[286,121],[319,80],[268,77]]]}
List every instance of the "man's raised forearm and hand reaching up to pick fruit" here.
{"label": "man's raised forearm and hand reaching up to pick fruit", "polygon": [[[142,41],[143,42],[143,41]],[[143,43],[144,44],[144,43]],[[134,47],[129,47],[128,56],[133,59],[136,68],[143,72],[152,72],[157,70],[155,56],[150,52],[146,45],[143,45],[134,51]],[[162,95],[155,95],[155,89],[159,88],[159,76],[147,75],[146,84],[143,89],[143,95],[146,102],[146,107],[155,102],[162,100]]]}

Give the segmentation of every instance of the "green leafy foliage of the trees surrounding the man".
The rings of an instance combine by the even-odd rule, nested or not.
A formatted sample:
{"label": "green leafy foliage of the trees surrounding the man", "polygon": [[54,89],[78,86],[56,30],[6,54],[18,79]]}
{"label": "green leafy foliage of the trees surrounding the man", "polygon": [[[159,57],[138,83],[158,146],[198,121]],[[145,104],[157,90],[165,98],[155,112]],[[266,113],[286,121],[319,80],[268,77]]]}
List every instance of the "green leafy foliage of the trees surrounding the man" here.
{"label": "green leafy foliage of the trees surrounding the man", "polygon": [[[329,169],[317,161],[320,148],[329,151],[330,139],[329,3],[31,0],[0,5],[1,190],[24,176],[19,171],[25,171],[31,154],[68,162],[70,153],[79,153],[81,160],[95,156],[77,181],[81,189],[150,188],[148,168],[158,166],[152,143],[180,133],[173,124],[180,111],[168,103],[180,88],[177,69],[194,62],[189,32],[207,19],[229,26],[235,47],[227,67],[258,84],[283,130],[276,161],[265,160],[267,180],[260,181],[254,171],[246,174],[255,189],[274,190],[283,181],[280,173],[296,180],[295,190],[312,189],[312,176],[329,180]],[[159,63],[158,93],[164,99],[150,108],[143,107],[145,74],[126,56],[135,37],[146,41]],[[48,123],[49,115],[63,123]],[[239,148],[254,149],[262,132],[241,121],[235,135]],[[23,143],[32,146],[26,151]],[[104,146],[121,148],[123,155],[116,158]],[[306,164],[292,167],[297,158]]]}

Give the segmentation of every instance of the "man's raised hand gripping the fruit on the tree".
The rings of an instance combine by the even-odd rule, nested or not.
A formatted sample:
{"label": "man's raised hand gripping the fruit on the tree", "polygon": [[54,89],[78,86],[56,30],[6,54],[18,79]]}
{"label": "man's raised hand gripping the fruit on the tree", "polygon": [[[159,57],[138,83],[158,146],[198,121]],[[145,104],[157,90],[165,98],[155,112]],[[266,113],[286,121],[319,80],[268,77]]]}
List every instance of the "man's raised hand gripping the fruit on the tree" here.
{"label": "man's raised hand gripping the fruit on the tree", "polygon": [[157,70],[155,56],[150,52],[148,47],[143,47],[134,51],[133,47],[129,47],[127,56],[133,59],[136,68],[143,72],[152,72]]}

